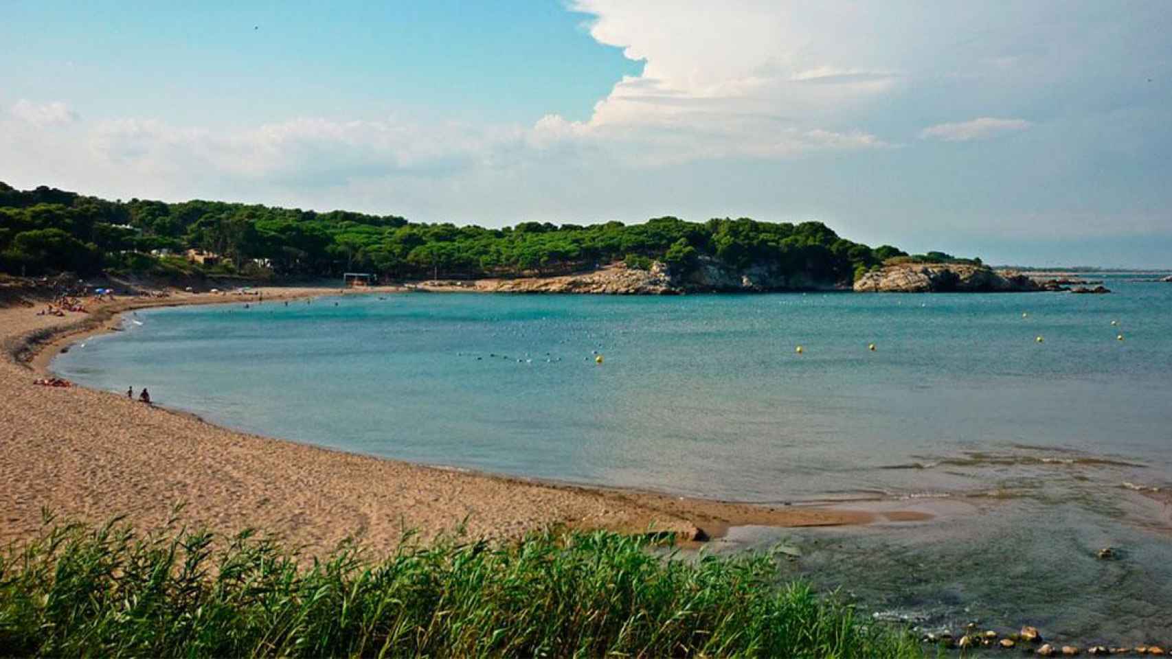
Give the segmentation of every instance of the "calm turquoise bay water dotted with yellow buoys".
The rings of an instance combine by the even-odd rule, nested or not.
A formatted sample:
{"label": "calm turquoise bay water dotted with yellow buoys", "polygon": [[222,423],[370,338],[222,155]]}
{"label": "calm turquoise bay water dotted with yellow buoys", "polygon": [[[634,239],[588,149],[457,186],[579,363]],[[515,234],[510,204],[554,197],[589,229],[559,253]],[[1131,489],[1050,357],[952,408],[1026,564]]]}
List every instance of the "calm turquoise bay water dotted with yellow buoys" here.
{"label": "calm turquoise bay water dotted with yellow buoys", "polygon": [[[1137,279],[1108,276],[1111,295],[402,294],[158,309],[54,369],[387,458],[924,509],[936,519],[737,529],[717,549],[785,543],[802,558],[783,571],[850,584],[872,610],[925,626],[1031,622],[1084,643],[1172,643],[1172,284]],[[1122,558],[1095,558],[1104,545]]]}

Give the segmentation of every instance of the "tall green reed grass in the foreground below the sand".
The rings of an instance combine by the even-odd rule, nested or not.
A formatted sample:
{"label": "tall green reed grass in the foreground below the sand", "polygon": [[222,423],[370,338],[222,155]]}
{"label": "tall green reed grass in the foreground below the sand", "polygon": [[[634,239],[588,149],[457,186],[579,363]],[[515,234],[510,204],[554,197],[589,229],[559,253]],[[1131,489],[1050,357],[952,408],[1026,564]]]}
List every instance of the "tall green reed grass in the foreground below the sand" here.
{"label": "tall green reed grass in the foreground below the sand", "polygon": [[920,655],[906,634],[778,584],[768,555],[649,549],[608,533],[533,534],[297,562],[247,533],[213,544],[177,527],[47,524],[0,558],[0,654]]}

